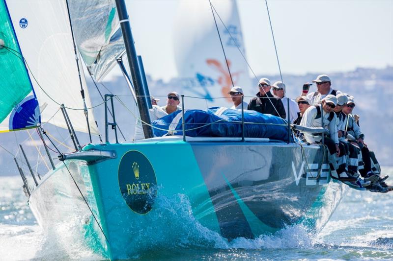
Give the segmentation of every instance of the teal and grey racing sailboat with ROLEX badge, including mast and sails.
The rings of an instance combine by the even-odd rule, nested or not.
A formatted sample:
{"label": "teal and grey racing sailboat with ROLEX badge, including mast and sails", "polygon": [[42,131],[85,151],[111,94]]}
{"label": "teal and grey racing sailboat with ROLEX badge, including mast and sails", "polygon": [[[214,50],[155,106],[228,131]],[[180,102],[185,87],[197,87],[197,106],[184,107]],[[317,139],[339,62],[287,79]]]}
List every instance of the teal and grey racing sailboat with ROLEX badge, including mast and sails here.
{"label": "teal and grey racing sailboat with ROLEX badge, including mast and sails", "polygon": [[[1,35],[6,51],[0,50],[8,55],[1,66],[9,66],[4,67],[10,73],[9,86],[18,83],[24,88],[9,95],[8,107],[1,103],[1,130],[43,131],[42,123],[51,119],[69,130],[76,148],[68,154],[59,151],[60,162],[41,180],[35,179],[35,186],[24,178],[28,204],[45,231],[61,238],[64,227],[72,227],[94,251],[100,249],[113,260],[127,259],[146,249],[155,234],[166,233],[155,229],[165,227],[157,200],[177,194],[189,201],[195,222],[228,240],[255,238],[300,223],[310,229],[326,224],[346,186],[331,180],[322,146],[294,142],[290,136],[188,137],[185,124],[180,124],[183,129],[177,135],[153,137],[124,0],[115,0],[116,5],[105,0],[90,3],[1,0],[0,4],[1,32],[7,32]],[[87,36],[83,32],[93,23],[91,16],[104,25]],[[121,46],[130,63],[140,119],[147,123],[145,139],[117,142],[115,117],[109,115],[115,115],[114,96],[106,95],[105,142],[81,146],[75,130],[94,135],[98,129],[80,57],[100,79],[124,53]],[[180,122],[184,118],[179,117]],[[116,142],[111,143],[113,134]],[[18,170],[26,176],[19,166]],[[91,236],[96,240],[87,240]]]}

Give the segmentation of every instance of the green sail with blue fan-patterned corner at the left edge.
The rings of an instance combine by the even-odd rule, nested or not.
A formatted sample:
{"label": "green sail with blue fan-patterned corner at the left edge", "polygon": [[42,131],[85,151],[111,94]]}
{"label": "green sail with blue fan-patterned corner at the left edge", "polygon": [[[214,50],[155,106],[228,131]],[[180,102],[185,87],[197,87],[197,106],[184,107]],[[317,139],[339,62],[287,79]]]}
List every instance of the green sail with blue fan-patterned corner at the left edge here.
{"label": "green sail with blue fan-patterned corner at the left edge", "polygon": [[4,0],[0,0],[0,39],[0,131],[33,127],[39,118],[38,102]]}

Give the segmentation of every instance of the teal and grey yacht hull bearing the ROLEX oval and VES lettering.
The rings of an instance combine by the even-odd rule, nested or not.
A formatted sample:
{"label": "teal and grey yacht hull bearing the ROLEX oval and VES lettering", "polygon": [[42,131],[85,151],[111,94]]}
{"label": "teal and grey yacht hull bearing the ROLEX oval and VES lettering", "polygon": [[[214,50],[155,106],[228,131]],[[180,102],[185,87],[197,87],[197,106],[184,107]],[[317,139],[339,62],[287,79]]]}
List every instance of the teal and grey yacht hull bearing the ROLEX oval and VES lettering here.
{"label": "teal and grey yacht hull bearing the ROLEX oval and VES lettering", "polygon": [[64,220],[56,216],[48,223],[51,212],[73,206],[71,219],[83,220],[78,229],[93,235],[91,247],[111,259],[130,258],[172,233],[166,228],[173,228],[173,220],[162,205],[174,196],[187,201],[195,222],[231,240],[301,222],[320,229],[346,191],[330,180],[322,149],[313,145],[169,140],[84,147],[85,153],[97,151],[110,151],[111,157],[74,153],[64,163],[105,237],[61,165],[46,175],[29,203],[48,229]]}

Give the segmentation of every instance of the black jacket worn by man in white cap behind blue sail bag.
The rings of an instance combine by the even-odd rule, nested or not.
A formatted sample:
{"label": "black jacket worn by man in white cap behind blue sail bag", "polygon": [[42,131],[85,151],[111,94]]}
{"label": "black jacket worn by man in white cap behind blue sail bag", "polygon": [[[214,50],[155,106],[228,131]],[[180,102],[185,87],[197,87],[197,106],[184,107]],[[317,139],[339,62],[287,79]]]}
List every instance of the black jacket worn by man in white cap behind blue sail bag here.
{"label": "black jacket worn by man in white cap behind blue sail bag", "polygon": [[[270,92],[267,92],[266,95],[269,98],[262,98],[262,97],[266,97],[266,96],[262,96],[260,93],[257,93],[256,97],[252,98],[250,100],[250,103],[249,103],[249,106],[247,107],[247,109],[257,111],[260,113],[264,113],[264,114],[271,114],[274,116],[279,116],[279,117],[285,119],[286,115],[285,115],[284,105],[282,104],[281,99],[273,97],[273,95]],[[273,103],[273,105],[272,105],[272,103]],[[277,112],[279,112],[280,115],[277,114],[277,112],[273,106],[276,107]]]}

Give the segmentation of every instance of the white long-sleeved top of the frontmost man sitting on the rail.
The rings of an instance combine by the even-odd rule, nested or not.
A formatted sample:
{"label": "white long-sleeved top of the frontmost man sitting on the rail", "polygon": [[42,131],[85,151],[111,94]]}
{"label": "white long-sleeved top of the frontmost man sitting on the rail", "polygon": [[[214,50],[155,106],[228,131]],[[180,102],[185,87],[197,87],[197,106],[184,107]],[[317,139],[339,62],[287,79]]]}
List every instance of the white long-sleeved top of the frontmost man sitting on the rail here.
{"label": "white long-sleeved top of the frontmost man sitting on the rail", "polygon": [[[322,105],[317,105],[319,108],[322,109]],[[323,111],[323,126],[322,126],[322,120],[321,117],[318,119],[315,119],[317,116],[317,109],[315,106],[310,106],[304,113],[302,121],[300,122],[301,126],[305,127],[324,127],[327,128],[330,132],[330,138],[338,144],[338,134],[337,134],[337,116],[336,113],[333,112],[333,118],[332,120],[329,121],[330,113],[325,113]],[[304,136],[309,143],[315,143],[315,142],[320,142],[322,137],[319,135],[312,135],[310,133],[304,132]]]}

